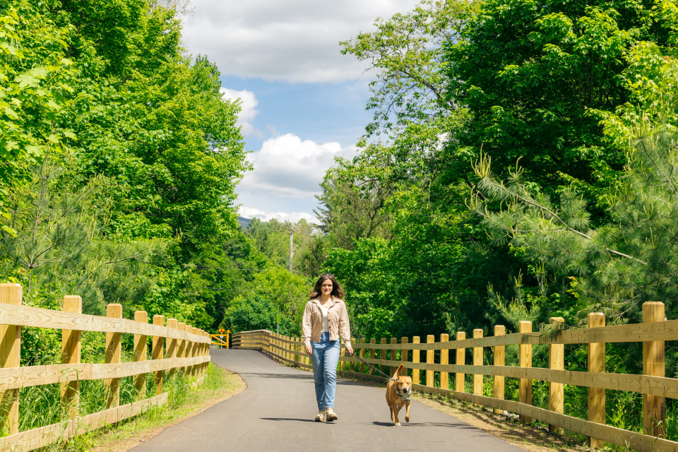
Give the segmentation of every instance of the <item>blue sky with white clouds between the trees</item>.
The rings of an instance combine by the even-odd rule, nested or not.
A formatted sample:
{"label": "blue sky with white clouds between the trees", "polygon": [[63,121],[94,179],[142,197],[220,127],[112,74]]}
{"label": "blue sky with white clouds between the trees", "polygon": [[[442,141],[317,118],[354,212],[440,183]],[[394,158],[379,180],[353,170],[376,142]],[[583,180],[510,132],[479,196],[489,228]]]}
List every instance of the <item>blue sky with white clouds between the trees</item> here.
{"label": "blue sky with white clouds between the trees", "polygon": [[419,0],[193,0],[184,45],[221,71],[240,99],[239,125],[254,170],[237,187],[245,218],[317,222],[319,184],[335,157],[351,158],[371,119],[369,62],[341,40]]}

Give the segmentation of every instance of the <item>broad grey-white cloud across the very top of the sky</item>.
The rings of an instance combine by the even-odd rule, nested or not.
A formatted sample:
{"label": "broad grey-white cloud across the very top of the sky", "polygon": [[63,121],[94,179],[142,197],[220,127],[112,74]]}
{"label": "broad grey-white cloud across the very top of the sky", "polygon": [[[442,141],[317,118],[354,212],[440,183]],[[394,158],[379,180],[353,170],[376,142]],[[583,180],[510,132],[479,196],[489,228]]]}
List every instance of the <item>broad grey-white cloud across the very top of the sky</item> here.
{"label": "broad grey-white cloud across the very top of the sky", "polygon": [[419,0],[193,0],[183,37],[224,76],[290,83],[357,79],[368,64],[340,54],[340,40]]}

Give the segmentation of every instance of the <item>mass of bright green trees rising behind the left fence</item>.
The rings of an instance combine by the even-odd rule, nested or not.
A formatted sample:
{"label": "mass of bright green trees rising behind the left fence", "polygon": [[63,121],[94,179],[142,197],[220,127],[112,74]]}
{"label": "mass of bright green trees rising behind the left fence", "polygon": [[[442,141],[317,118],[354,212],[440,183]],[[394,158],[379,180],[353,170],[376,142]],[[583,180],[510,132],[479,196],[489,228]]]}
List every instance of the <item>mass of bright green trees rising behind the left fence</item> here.
{"label": "mass of bright green trees rising behind the left fence", "polygon": [[234,186],[248,165],[218,69],[182,48],[185,8],[13,0],[0,11],[0,275],[27,295],[220,323],[227,300],[208,287],[232,275],[199,263],[234,261],[212,249],[239,231]]}

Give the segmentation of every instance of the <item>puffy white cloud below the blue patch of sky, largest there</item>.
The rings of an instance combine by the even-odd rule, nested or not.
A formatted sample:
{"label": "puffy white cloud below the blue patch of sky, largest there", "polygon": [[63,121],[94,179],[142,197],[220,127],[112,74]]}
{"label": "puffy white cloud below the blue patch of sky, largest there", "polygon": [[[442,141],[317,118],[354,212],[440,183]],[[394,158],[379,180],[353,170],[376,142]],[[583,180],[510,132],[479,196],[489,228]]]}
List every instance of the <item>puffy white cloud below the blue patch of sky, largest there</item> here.
{"label": "puffy white cloud below the blue patch of sky, largest there", "polygon": [[261,150],[249,155],[254,170],[247,172],[238,192],[275,198],[313,199],[320,193],[319,184],[334,157],[353,157],[355,146],[342,148],[339,143],[318,144],[302,141],[296,135],[270,138]]}

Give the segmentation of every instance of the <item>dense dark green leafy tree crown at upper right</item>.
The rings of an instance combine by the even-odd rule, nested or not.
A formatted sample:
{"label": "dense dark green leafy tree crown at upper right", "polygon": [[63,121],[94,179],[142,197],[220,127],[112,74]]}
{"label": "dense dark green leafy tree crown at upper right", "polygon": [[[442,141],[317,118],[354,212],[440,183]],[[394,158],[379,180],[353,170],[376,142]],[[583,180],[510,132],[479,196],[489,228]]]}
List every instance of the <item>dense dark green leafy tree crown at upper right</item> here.
{"label": "dense dark green leafy tree crown at upper right", "polygon": [[446,44],[448,95],[472,115],[456,136],[458,158],[470,162],[482,148],[504,177],[522,157],[526,177],[546,193],[571,185],[595,200],[625,163],[599,123],[631,100],[626,54],[641,39],[665,42],[649,7],[643,1],[482,4],[462,39]]}

